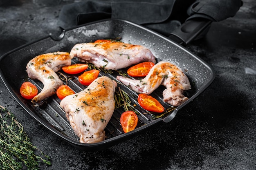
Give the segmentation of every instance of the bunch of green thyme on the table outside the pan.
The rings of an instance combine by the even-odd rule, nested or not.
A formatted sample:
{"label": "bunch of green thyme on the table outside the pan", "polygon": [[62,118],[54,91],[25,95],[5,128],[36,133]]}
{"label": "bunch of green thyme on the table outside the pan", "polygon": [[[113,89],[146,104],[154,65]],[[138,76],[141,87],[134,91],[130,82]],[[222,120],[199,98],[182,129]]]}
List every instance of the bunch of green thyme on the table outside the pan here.
{"label": "bunch of green thyme on the table outside the pan", "polygon": [[[4,115],[4,117],[2,116]],[[42,154],[38,156],[27,137],[23,126],[15,119],[13,113],[0,106],[0,164],[4,170],[39,170],[38,163],[43,162],[51,165],[49,156]],[[43,158],[45,157],[45,158]]]}

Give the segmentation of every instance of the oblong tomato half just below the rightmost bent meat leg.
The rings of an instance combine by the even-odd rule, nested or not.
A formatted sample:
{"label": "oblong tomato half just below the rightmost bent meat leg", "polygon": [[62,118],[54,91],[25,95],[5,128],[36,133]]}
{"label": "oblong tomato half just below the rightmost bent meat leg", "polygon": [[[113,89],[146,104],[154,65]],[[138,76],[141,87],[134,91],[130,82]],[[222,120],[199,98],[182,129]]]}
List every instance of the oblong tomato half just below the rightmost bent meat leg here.
{"label": "oblong tomato half just below the rightmost bent meat leg", "polygon": [[146,95],[144,93],[139,94],[138,102],[142,108],[144,108],[150,112],[161,113],[164,111],[164,106],[162,106],[162,104],[160,102],[158,102],[157,99],[155,99],[154,97],[152,97],[150,95]]}

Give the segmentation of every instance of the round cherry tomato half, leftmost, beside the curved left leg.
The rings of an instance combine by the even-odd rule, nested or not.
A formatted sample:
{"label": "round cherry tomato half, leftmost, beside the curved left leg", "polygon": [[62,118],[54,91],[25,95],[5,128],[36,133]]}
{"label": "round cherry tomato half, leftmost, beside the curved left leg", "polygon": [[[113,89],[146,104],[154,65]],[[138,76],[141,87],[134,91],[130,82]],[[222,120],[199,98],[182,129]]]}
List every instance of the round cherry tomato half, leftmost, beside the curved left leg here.
{"label": "round cherry tomato half, leftmost, beside the curved left leg", "polygon": [[24,82],[20,86],[20,94],[25,99],[33,99],[38,94],[38,89],[31,82]]}

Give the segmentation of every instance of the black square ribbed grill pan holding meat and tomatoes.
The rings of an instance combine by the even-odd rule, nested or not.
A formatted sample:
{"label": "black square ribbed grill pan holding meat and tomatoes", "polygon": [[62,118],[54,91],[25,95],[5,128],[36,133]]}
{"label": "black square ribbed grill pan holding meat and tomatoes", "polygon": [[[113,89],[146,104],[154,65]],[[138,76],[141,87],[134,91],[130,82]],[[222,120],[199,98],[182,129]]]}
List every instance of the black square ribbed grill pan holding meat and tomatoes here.
{"label": "black square ribbed grill pan holding meat and tomatoes", "polygon": [[[70,52],[72,47],[77,43],[94,42],[95,40],[105,38],[121,38],[121,41],[125,43],[146,46],[155,55],[157,62],[169,61],[179,66],[189,78],[191,91],[186,92],[189,100],[184,104],[178,106],[173,112],[164,117],[155,118],[151,114],[144,114],[147,111],[137,104],[137,93],[118,83],[118,87],[129,95],[132,105],[136,104],[135,109],[139,114],[137,128],[128,133],[123,132],[119,119],[121,113],[124,112],[124,109],[118,108],[113,113],[110,122],[105,128],[106,140],[95,144],[83,144],[79,142],[79,138],[74,134],[74,131],[65,117],[65,112],[59,106],[61,101],[56,95],[45,99],[47,104],[44,107],[38,107],[34,106],[30,100],[22,98],[19,88],[25,81],[30,81],[35,84],[39,91],[43,88],[41,82],[29,79],[26,73],[27,63],[35,56],[55,51]],[[78,62],[79,61],[76,58],[72,59],[73,64]],[[45,128],[81,150],[102,150],[126,141],[160,122],[170,122],[175,117],[176,113],[202,93],[215,77],[215,73],[211,66],[200,59],[200,57],[189,52],[183,46],[180,46],[180,44],[173,42],[169,38],[155,33],[154,31],[146,29],[143,26],[126,20],[101,20],[65,30],[57,39],[47,36],[2,55],[2,57],[0,57],[0,63],[0,76],[17,102],[32,117],[34,117],[34,119],[45,126]],[[106,75],[116,80],[116,76],[119,74],[114,71],[113,74],[101,72],[100,76],[102,75]],[[79,92],[85,88],[85,86],[79,84],[77,76],[74,76],[72,80],[69,80],[68,85],[75,92]],[[163,87],[159,87],[151,95],[157,98],[159,102],[163,104],[165,109],[168,109],[172,106],[163,102],[163,90]]]}

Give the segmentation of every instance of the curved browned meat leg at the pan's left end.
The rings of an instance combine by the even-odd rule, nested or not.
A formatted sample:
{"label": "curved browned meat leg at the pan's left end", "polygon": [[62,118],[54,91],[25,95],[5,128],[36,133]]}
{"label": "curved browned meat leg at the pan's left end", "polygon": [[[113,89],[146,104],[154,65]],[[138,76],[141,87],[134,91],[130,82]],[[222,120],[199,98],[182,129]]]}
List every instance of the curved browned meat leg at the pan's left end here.
{"label": "curved browned meat leg at the pan's left end", "polygon": [[44,85],[42,91],[31,102],[36,103],[54,95],[58,87],[63,84],[55,72],[59,71],[62,66],[70,64],[70,54],[59,51],[38,55],[30,60],[26,67],[29,78],[38,79]]}

